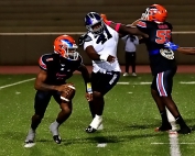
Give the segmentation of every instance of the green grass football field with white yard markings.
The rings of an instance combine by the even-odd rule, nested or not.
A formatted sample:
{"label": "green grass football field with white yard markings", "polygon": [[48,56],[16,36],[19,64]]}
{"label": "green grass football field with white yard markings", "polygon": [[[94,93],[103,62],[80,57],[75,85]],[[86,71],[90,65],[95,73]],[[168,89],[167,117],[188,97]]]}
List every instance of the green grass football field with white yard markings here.
{"label": "green grass football field with white yard markings", "polygon": [[[121,77],[120,82],[106,94],[104,130],[87,134],[84,130],[91,118],[84,97],[84,82],[80,75],[69,81],[76,85],[71,118],[59,127],[63,142],[56,145],[48,131],[59,108],[51,101],[45,118],[36,131],[36,145],[24,148],[30,119],[33,112],[34,81],[7,86],[35,77],[34,75],[0,76],[0,156],[170,156],[169,133],[156,133],[160,114],[150,96],[150,74]],[[194,74],[177,74],[174,78],[173,99],[187,124],[195,127],[195,81]],[[3,88],[3,86],[7,86]],[[178,135],[180,155],[195,155],[195,133]],[[156,143],[156,144],[154,144]],[[98,147],[98,145],[106,145]],[[175,156],[180,156],[175,155]]]}

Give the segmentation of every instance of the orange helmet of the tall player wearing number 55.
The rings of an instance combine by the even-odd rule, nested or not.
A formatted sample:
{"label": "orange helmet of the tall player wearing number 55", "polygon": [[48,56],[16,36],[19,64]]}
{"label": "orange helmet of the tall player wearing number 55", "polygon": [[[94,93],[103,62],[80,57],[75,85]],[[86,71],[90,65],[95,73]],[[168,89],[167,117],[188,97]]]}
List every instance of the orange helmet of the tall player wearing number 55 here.
{"label": "orange helmet of the tall player wearing number 55", "polygon": [[166,20],[167,11],[164,7],[160,4],[152,4],[147,8],[145,13],[142,13],[141,19],[147,21],[153,21],[156,23],[162,23]]}

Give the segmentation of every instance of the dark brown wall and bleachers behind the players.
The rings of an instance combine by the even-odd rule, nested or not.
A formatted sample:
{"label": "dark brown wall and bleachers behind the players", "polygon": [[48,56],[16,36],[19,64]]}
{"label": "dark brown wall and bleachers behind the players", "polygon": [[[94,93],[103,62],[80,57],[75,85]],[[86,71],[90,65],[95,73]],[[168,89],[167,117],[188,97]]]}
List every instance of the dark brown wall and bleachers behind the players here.
{"label": "dark brown wall and bleachers behind the players", "polygon": [[[86,29],[85,14],[106,13],[115,22],[132,23],[145,8],[163,4],[173,24],[173,40],[181,46],[195,46],[194,0],[0,0],[0,65],[37,65],[42,54],[53,52],[53,41],[61,34],[77,38]],[[85,64],[90,60],[83,48],[78,52]],[[144,45],[138,46],[140,65],[148,65]],[[178,64],[195,64],[195,56],[175,53]],[[124,63],[123,43],[119,42],[118,57]]]}

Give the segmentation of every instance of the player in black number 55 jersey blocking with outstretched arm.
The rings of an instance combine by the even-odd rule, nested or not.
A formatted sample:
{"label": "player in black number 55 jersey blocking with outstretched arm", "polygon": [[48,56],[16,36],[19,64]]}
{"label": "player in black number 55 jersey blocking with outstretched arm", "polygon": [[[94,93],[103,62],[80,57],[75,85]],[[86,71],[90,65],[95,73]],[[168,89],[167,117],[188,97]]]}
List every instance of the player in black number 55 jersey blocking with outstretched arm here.
{"label": "player in black number 55 jersey blocking with outstretched arm", "polygon": [[[175,102],[172,99],[173,77],[176,73],[177,66],[174,58],[174,53],[170,48],[164,48],[164,43],[172,41],[172,24],[166,22],[167,11],[160,4],[152,4],[147,8],[145,13],[142,14],[141,20],[133,22],[134,30],[140,30],[148,34],[149,37],[143,37],[142,42],[145,43],[148,52],[151,71],[153,75],[153,81],[151,85],[151,94],[154,99],[161,118],[162,124],[155,131],[172,130],[172,125],[169,122],[166,115],[166,108],[175,118],[176,123],[180,124],[177,133],[188,134],[191,129],[184,122],[182,115]],[[116,24],[105,20],[106,23],[115,27]],[[121,26],[119,29],[121,33],[129,33],[127,27]]]}

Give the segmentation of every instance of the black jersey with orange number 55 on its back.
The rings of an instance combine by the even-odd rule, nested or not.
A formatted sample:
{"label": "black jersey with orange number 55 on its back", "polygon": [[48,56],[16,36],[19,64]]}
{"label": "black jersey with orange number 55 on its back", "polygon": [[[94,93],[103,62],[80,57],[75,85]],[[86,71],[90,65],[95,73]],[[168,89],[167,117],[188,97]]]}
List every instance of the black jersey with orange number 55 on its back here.
{"label": "black jersey with orange number 55 on its back", "polygon": [[173,57],[169,58],[162,55],[161,49],[164,49],[164,43],[172,41],[172,24],[169,22],[155,23],[151,21],[141,20],[137,27],[149,35],[144,38],[150,58],[150,66],[153,75],[172,69],[176,67],[176,62]]}

